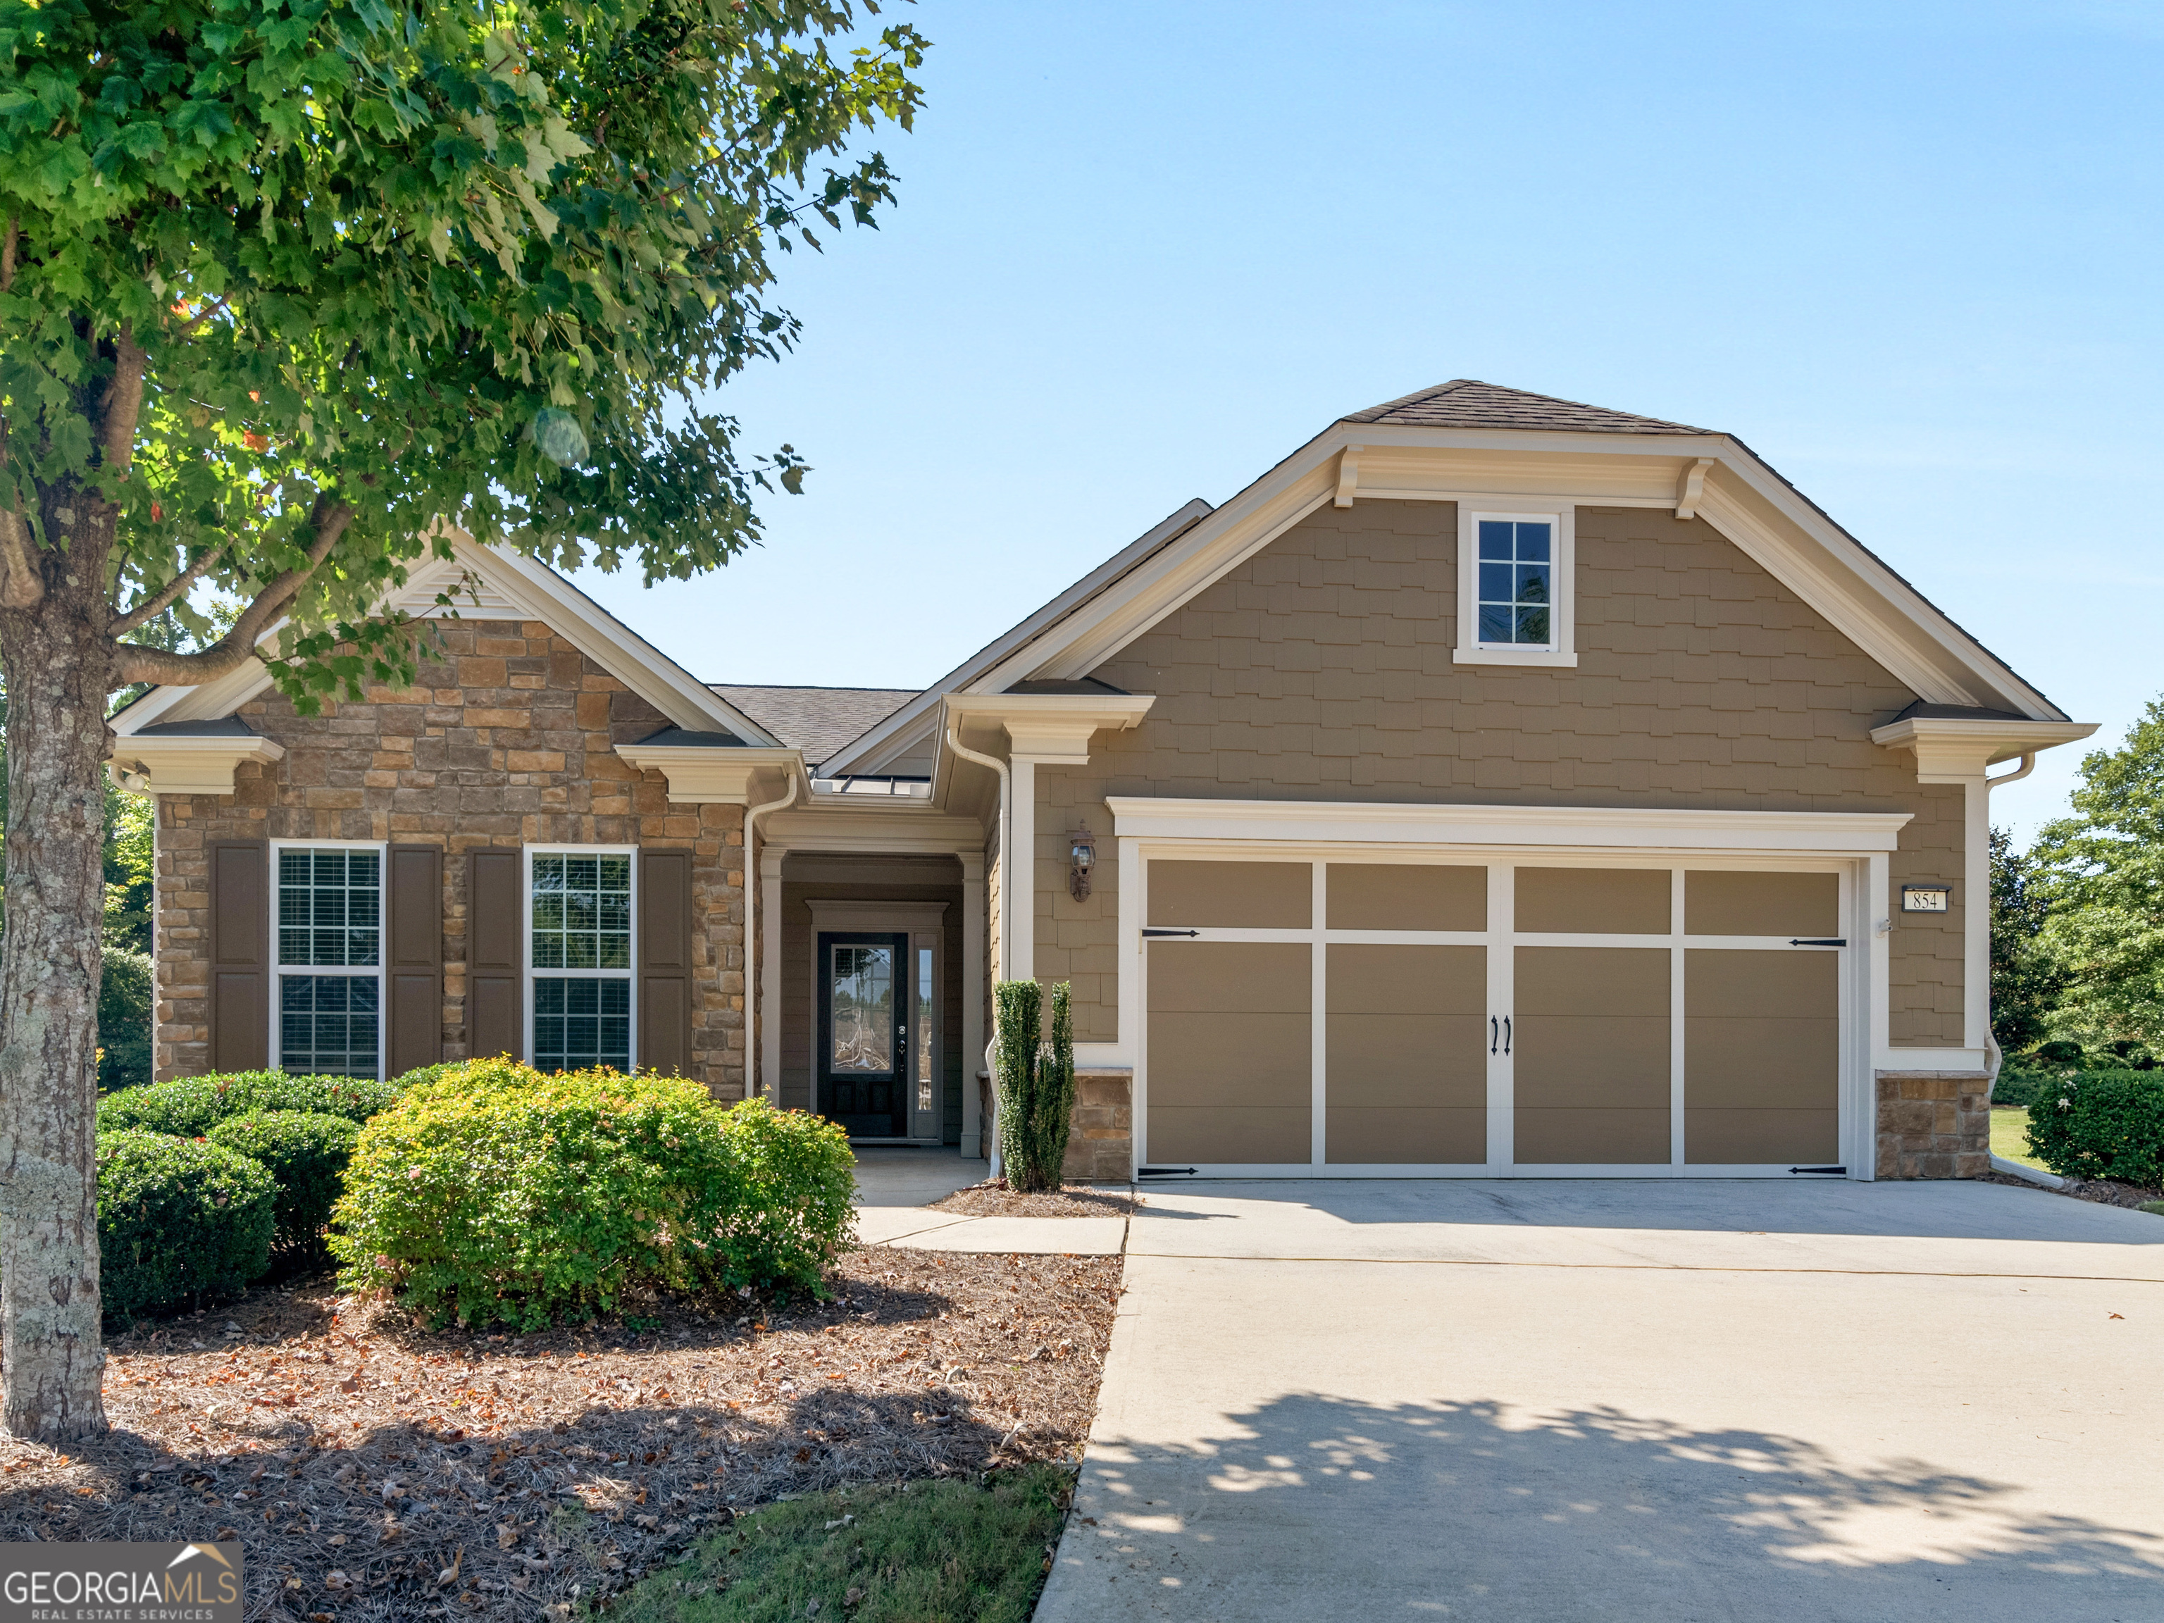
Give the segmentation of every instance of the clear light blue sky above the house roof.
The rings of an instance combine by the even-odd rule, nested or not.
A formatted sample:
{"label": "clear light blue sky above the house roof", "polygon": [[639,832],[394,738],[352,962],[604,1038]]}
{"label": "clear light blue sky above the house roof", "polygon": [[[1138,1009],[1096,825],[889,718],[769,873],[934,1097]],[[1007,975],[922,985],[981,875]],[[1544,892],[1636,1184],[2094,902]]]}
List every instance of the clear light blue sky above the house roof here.
{"label": "clear light blue sky above the house roof", "polygon": [[[697,675],[918,686],[1450,377],[1725,428],[2114,740],[2164,690],[2164,6],[976,4],[900,206],[721,405],[766,543],[582,582]],[[2077,749],[1995,796],[2023,833]]]}

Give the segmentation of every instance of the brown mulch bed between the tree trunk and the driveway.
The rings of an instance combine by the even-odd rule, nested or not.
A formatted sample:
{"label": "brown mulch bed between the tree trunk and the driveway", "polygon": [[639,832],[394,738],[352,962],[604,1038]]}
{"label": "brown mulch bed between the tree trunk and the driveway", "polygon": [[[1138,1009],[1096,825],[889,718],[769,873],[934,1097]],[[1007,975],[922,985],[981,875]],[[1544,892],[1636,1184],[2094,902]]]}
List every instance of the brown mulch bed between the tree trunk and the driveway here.
{"label": "brown mulch bed between the tree trunk and the driveway", "polygon": [[0,1541],[240,1539],[266,1623],[567,1619],[755,1504],[1080,1456],[1119,1277],[855,1251],[829,1303],[524,1337],[255,1290],[108,1342],[108,1437],[0,1437]]}

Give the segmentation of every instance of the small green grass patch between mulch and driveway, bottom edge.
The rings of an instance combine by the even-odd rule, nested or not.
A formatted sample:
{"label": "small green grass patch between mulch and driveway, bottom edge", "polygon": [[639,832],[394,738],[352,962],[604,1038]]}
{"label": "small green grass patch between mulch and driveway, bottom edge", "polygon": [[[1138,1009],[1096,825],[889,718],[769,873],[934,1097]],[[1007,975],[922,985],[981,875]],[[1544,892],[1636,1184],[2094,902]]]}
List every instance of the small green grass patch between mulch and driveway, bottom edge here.
{"label": "small green grass patch between mulch and driveway, bottom edge", "polygon": [[1028,1623],[1073,1472],[848,1487],[770,1504],[608,1608],[621,1623]]}

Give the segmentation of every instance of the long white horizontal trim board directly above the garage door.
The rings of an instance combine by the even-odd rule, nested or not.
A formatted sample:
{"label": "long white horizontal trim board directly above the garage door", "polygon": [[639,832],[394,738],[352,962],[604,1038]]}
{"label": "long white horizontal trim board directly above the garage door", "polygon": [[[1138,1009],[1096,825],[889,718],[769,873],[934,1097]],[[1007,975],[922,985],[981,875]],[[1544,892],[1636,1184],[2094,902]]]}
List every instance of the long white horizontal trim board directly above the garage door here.
{"label": "long white horizontal trim board directly above the garage door", "polygon": [[1106,796],[1114,837],[1322,844],[1567,846],[1861,855],[1894,850],[1909,812],[1703,812],[1575,805],[1175,801]]}

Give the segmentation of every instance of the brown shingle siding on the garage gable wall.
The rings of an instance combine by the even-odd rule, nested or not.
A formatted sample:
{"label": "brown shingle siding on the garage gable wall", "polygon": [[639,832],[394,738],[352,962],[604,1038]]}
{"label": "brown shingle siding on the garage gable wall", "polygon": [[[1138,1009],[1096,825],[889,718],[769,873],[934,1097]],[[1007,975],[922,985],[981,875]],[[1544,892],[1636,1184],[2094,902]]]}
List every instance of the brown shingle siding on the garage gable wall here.
{"label": "brown shingle siding on the garage gable wall", "polygon": [[[1896,868],[1958,879],[1961,790],[1870,740],[1915,695],[1712,526],[1582,506],[1575,589],[1578,669],[1454,664],[1454,504],[1324,506],[1106,660],[1158,703],[1037,768],[1037,974],[1076,980],[1076,1037],[1117,1037],[1106,794],[1915,812]],[[1894,1039],[1958,1041],[1958,915],[1896,924],[1894,965]]]}

